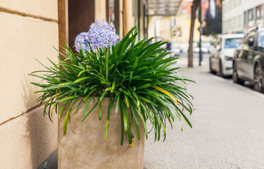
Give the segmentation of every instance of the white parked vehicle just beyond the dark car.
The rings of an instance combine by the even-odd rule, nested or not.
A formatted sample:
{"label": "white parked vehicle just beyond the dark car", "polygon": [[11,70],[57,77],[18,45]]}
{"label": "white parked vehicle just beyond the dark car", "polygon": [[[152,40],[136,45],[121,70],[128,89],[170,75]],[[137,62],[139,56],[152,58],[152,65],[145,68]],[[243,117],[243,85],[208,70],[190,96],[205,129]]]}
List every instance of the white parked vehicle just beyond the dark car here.
{"label": "white parked vehicle just beyond the dark car", "polygon": [[243,34],[220,35],[210,51],[210,73],[219,73],[221,77],[233,74],[234,51],[244,37]]}

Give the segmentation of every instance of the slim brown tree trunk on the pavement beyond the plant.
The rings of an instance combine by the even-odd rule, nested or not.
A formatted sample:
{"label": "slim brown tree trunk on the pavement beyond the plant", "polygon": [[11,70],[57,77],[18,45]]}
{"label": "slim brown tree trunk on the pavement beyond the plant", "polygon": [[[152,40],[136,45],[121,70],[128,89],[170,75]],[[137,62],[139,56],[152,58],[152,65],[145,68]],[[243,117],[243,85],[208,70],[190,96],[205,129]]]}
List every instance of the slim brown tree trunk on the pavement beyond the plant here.
{"label": "slim brown tree trunk on the pavement beyond the plant", "polygon": [[193,67],[193,54],[192,54],[192,44],[194,42],[194,23],[196,18],[196,9],[199,6],[201,0],[194,0],[191,6],[191,28],[190,28],[190,38],[189,38],[189,49],[188,49],[188,67]]}

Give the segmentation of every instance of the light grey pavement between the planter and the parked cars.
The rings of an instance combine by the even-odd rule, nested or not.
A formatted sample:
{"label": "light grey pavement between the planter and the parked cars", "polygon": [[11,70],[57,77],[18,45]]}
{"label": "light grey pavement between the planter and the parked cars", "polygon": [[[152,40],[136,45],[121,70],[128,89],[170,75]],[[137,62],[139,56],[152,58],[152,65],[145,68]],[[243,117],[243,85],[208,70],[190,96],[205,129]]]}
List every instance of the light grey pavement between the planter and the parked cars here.
{"label": "light grey pavement between the planter and the parked cars", "polygon": [[[144,168],[264,168],[264,94],[234,84],[208,71],[208,56],[187,68],[181,56],[180,73],[196,80],[188,83],[194,96],[193,128],[182,120],[183,131],[167,127],[165,142],[145,142]],[[149,129],[151,125],[149,125]]]}

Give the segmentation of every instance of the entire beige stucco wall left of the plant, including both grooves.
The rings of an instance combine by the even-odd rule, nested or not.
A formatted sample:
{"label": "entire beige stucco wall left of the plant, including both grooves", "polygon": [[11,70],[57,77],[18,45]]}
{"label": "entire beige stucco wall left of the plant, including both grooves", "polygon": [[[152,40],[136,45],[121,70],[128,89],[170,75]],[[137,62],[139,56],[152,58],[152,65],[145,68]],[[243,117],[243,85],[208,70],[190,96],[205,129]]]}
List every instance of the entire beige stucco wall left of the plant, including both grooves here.
{"label": "entire beige stucco wall left of the plant, including both grooves", "polygon": [[43,117],[27,74],[56,60],[57,0],[1,0],[0,20],[0,168],[35,169],[57,147],[57,117]]}

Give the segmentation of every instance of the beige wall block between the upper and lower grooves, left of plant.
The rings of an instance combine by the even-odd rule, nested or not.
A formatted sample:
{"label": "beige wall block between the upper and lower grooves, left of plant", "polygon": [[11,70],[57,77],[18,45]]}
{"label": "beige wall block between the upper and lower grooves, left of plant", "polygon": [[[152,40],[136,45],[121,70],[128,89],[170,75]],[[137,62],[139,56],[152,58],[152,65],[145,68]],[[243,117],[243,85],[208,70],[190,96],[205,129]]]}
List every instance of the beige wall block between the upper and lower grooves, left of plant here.
{"label": "beige wall block between the upper and lower grooves, left of plant", "polygon": [[[58,47],[58,24],[30,17],[0,12],[0,123],[25,113],[34,106],[39,94],[30,84],[35,77],[27,74],[39,70],[46,57],[55,58]],[[8,113],[3,113],[8,112]]]}

